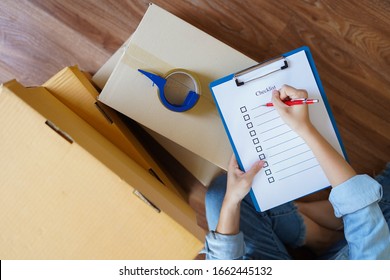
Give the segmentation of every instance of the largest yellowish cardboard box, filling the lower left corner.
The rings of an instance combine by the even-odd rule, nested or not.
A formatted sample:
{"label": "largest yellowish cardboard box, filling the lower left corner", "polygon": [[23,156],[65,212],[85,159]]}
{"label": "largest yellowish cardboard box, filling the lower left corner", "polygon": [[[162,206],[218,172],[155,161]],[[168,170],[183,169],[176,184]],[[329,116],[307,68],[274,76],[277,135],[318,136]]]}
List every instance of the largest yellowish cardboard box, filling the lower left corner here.
{"label": "largest yellowish cardboard box, filling the lower left corner", "polygon": [[203,246],[190,206],[45,88],[1,86],[0,142],[1,259],[192,259]]}

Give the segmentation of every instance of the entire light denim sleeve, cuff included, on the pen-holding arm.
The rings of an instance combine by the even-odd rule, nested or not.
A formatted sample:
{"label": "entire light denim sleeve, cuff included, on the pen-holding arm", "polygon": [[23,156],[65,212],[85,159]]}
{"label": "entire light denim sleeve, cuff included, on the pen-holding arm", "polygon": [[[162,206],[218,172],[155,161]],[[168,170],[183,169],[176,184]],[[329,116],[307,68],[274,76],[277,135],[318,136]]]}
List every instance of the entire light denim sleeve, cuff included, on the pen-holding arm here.
{"label": "entire light denim sleeve, cuff included, on the pen-holding arm", "polygon": [[378,205],[382,187],[368,175],[356,175],[333,188],[329,201],[344,221],[349,259],[390,259],[389,227]]}

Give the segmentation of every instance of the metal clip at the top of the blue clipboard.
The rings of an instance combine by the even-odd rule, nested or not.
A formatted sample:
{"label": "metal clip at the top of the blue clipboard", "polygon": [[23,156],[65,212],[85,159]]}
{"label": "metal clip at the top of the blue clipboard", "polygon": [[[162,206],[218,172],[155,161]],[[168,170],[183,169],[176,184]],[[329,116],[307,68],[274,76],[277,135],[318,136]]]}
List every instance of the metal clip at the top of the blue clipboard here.
{"label": "metal clip at the top of the blue clipboard", "polygon": [[238,87],[288,68],[285,57],[277,57],[234,74]]}

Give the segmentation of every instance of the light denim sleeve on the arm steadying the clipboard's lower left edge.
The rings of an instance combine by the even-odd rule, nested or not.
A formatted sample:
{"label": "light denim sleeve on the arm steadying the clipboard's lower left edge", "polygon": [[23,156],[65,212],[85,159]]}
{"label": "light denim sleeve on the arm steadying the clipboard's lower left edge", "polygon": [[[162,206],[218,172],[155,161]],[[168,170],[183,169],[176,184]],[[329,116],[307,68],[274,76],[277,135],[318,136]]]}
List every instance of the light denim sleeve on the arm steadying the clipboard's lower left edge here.
{"label": "light denim sleeve on the arm steadying the clipboard's lower left edge", "polygon": [[206,235],[205,248],[207,260],[241,259],[245,254],[244,234],[224,235],[210,231]]}

